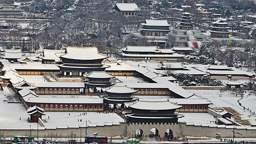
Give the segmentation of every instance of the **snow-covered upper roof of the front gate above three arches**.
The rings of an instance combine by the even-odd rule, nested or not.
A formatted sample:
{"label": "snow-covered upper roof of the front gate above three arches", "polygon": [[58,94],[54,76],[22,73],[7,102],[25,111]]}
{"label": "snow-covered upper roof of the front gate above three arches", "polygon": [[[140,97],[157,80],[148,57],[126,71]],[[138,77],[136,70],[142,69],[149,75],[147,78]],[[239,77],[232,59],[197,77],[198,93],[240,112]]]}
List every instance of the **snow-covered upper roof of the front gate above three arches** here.
{"label": "snow-covered upper roof of the front gate above three arches", "polygon": [[180,105],[174,104],[171,101],[144,101],[138,100],[131,103],[125,103],[126,107],[134,109],[146,109],[146,110],[166,110],[166,109],[179,109]]}

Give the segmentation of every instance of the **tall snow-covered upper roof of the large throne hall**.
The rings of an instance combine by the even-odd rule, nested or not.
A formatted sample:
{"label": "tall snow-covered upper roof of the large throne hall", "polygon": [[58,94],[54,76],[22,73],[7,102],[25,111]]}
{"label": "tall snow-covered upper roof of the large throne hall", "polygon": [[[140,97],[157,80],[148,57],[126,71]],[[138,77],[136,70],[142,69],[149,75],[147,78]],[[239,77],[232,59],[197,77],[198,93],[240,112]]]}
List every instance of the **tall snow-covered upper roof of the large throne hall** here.
{"label": "tall snow-covered upper roof of the large throne hall", "polygon": [[98,60],[108,58],[98,54],[96,47],[67,47],[64,55],[60,58],[68,58],[74,60]]}

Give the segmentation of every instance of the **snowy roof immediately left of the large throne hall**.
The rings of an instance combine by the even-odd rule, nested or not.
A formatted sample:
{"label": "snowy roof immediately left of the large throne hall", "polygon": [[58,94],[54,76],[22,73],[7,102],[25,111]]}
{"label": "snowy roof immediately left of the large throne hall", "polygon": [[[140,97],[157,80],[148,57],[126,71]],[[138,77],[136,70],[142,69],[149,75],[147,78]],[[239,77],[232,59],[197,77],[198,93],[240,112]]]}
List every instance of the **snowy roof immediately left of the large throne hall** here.
{"label": "snowy roof immediately left of the large throne hall", "polygon": [[60,60],[59,56],[63,55],[64,52],[65,50],[44,49],[42,59],[59,61]]}

